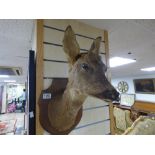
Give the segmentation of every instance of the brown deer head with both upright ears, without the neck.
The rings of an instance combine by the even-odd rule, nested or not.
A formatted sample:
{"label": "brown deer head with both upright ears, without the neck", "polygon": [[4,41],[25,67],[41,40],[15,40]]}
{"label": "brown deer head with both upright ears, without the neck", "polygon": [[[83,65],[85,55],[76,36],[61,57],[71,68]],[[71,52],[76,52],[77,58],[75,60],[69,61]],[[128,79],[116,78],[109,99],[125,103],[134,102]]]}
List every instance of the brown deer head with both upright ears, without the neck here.
{"label": "brown deer head with both upright ears, without the neck", "polygon": [[99,56],[101,37],[96,38],[88,53],[80,53],[79,44],[71,26],[65,30],[63,47],[70,64],[70,89],[85,96],[118,100],[119,93],[107,80],[107,67]]}

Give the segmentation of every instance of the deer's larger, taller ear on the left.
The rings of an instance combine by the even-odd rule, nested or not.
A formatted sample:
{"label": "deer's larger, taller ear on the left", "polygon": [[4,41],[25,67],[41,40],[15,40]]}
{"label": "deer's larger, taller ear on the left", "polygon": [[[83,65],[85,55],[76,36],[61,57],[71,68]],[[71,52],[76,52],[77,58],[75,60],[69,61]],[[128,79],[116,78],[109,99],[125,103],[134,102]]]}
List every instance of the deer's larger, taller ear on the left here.
{"label": "deer's larger, taller ear on the left", "polygon": [[63,48],[67,54],[69,63],[74,64],[76,61],[76,56],[80,53],[80,47],[76,41],[75,33],[70,25],[65,30]]}

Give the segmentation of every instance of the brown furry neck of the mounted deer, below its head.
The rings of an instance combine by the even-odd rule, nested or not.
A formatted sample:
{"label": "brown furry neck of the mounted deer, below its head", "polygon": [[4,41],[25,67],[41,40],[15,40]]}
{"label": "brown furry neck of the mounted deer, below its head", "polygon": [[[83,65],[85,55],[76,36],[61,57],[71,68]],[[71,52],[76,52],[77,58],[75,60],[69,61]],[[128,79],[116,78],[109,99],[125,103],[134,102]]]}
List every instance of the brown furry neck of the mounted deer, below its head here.
{"label": "brown furry neck of the mounted deer, below its head", "polygon": [[59,131],[65,131],[74,125],[86,95],[72,88],[68,83],[59,99],[54,104],[49,104],[48,115],[53,127]]}

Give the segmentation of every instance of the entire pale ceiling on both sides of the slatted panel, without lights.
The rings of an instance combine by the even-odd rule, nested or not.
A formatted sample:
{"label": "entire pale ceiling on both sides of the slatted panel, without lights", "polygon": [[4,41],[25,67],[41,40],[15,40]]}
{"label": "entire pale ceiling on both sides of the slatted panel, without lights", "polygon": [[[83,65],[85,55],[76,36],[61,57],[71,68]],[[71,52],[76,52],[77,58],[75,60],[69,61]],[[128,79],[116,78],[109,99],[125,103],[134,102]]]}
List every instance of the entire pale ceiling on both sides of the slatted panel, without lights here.
{"label": "entire pale ceiling on both sides of the slatted panel, without lights", "polygon": [[[155,74],[141,68],[155,66],[155,20],[81,19],[86,24],[109,32],[110,57],[121,56],[137,62],[111,68],[112,78]],[[28,54],[32,46],[34,20],[0,20],[0,66],[23,68],[27,77]],[[132,54],[128,54],[131,52]],[[2,79],[0,79],[2,80]]]}

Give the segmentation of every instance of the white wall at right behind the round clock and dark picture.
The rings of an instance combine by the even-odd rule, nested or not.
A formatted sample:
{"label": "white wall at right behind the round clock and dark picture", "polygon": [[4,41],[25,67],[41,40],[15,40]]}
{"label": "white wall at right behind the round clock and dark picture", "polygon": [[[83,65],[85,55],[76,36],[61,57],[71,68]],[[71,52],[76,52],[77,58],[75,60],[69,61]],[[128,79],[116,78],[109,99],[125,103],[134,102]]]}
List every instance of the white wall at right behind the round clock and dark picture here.
{"label": "white wall at right behind the round clock and dark picture", "polygon": [[[144,76],[136,76],[136,77],[122,77],[117,79],[112,79],[112,84],[114,87],[117,87],[120,81],[126,81],[129,85],[128,94],[135,94],[133,79],[143,79],[143,78],[155,78],[155,74],[153,75],[144,75]],[[136,94],[136,100],[141,101],[149,101],[155,103],[155,94]]]}

